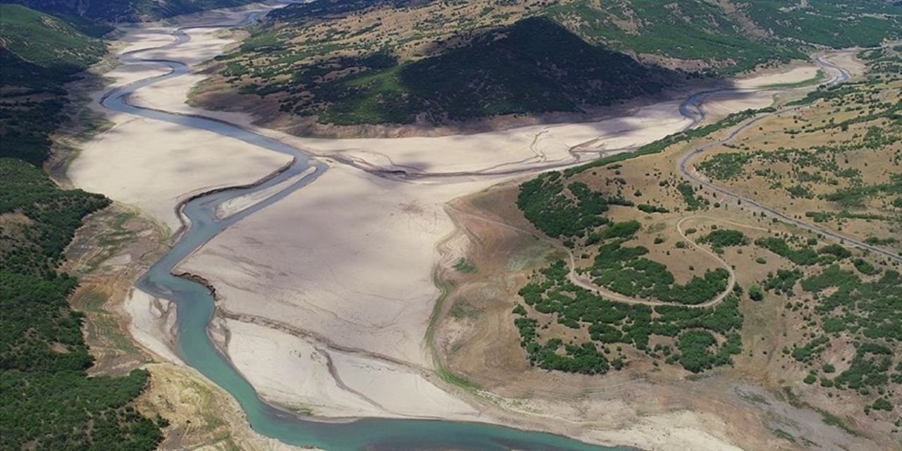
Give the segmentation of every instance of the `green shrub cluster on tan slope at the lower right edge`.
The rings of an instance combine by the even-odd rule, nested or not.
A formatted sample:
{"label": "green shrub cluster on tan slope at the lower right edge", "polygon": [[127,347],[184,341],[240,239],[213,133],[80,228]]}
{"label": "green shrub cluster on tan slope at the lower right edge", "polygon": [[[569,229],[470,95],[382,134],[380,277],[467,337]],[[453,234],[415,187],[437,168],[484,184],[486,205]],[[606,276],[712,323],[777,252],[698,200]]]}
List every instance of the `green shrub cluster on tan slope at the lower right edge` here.
{"label": "green shrub cluster on tan slope at the lower right edge", "polygon": [[[822,265],[807,277],[798,268],[780,269],[776,274],[769,274],[765,281],[767,289],[787,295],[795,294],[793,289],[798,281],[802,290],[812,295],[814,308],[805,315],[805,322],[820,330],[809,333],[810,338],[804,344],[785,347],[783,354],[813,366],[834,344],[834,338],[847,336],[857,348],[848,367],[832,377],[836,367],[822,364],[822,373],[815,367],[804,382],[819,381],[824,388],[854,390],[862,396],[876,394],[879,398],[865,408],[866,412],[893,410],[892,398],[883,395],[890,391],[889,383],[902,383],[902,360],[897,357],[897,344],[902,341],[902,310],[898,308],[902,302],[902,275],[887,269],[877,279],[862,281],[860,274],[880,273],[865,258],[853,259],[851,266],[855,269],[847,270],[841,262],[852,253],[845,247],[825,245],[816,253],[833,262]],[[799,305],[796,302],[793,310]]]}

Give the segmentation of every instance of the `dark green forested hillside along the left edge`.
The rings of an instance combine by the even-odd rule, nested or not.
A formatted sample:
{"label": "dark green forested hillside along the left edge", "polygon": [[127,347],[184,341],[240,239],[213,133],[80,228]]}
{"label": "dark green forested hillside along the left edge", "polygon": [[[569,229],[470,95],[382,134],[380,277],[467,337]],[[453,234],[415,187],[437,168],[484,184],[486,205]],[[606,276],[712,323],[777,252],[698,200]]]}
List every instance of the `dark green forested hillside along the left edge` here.
{"label": "dark green forested hillside along the left edge", "polygon": [[147,373],[87,377],[82,316],[57,272],[82,219],[109,200],[41,171],[67,103],[63,84],[106,51],[106,27],[0,5],[0,449],[150,450],[163,420],[133,400]]}

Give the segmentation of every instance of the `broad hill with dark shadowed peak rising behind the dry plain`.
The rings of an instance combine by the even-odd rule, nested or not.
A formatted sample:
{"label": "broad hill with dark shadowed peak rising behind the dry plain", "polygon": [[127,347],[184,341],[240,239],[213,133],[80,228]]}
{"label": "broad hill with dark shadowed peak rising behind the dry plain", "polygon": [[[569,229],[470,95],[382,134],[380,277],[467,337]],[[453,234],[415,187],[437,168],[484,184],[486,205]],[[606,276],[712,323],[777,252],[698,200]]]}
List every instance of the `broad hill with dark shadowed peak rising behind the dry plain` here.
{"label": "broad hill with dark shadowed peak rising behind the dry plain", "polygon": [[886,0],[319,0],[270,14],[198,101],[338,125],[574,112],[876,45],[900,17]]}

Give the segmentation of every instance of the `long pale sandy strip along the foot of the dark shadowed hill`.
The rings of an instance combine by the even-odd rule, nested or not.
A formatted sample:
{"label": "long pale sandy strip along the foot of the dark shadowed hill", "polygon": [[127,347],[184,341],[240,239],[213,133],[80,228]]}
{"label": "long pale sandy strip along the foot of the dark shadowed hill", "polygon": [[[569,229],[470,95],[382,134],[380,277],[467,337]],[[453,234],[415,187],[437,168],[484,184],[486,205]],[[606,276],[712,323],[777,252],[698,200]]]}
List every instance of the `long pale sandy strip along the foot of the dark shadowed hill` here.
{"label": "long pale sandy strip along the foot of the dark shadowed hill", "polygon": [[[170,55],[161,52],[166,58]],[[571,148],[604,152],[637,147],[676,133],[690,124],[679,115],[679,102],[639,108],[633,115],[580,124],[530,125],[489,133],[385,139],[317,139],[260,129],[242,113],[207,112],[189,106],[189,87],[203,79],[191,75],[144,87],[133,96],[136,105],[204,114],[242,124],[259,133],[319,155],[341,154],[382,169],[414,169],[427,173],[461,171],[539,170],[556,162],[575,162]],[[188,83],[186,83],[188,82]],[[743,108],[744,109],[744,108]]]}

